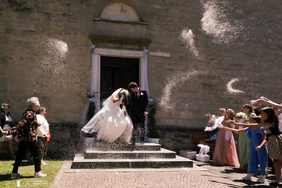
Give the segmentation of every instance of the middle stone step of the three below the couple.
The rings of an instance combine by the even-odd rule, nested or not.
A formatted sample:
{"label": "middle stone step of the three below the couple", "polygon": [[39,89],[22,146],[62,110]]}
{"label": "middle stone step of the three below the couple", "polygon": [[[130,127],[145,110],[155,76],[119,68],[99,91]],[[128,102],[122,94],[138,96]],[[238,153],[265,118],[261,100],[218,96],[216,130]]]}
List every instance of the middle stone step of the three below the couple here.
{"label": "middle stone step of the three below the couple", "polygon": [[161,148],[160,151],[98,151],[87,149],[84,159],[175,159],[176,153]]}

